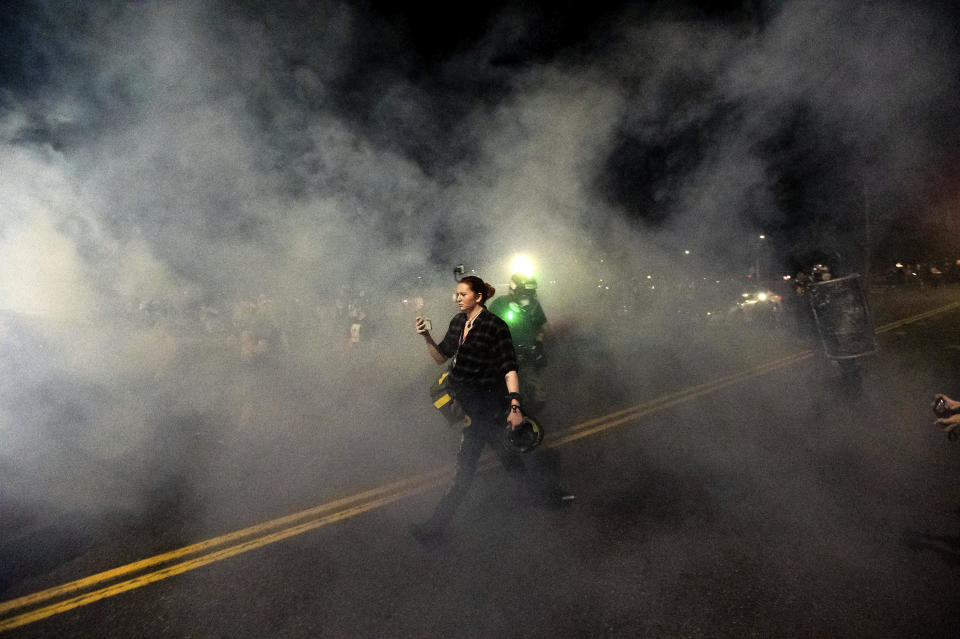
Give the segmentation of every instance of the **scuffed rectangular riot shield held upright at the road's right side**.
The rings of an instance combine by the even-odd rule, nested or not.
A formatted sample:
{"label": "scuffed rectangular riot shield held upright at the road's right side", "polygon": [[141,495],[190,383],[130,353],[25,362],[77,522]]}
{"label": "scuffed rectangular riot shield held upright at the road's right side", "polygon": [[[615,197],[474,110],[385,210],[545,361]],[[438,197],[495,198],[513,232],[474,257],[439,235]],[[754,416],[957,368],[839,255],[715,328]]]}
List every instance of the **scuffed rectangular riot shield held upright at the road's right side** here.
{"label": "scuffed rectangular riot shield held upright at the road's right side", "polygon": [[873,317],[859,275],[810,284],[807,297],[827,357],[853,359],[876,352]]}

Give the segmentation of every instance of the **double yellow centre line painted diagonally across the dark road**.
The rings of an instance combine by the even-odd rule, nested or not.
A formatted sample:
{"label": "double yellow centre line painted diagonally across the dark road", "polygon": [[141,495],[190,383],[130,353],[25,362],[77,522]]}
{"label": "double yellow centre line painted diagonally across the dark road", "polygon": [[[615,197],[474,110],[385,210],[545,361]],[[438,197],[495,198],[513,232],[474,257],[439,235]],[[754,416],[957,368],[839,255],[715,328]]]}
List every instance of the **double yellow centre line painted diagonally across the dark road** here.
{"label": "double yellow centre line painted diagonally across the dark road", "polygon": [[[960,302],[947,304],[946,306],[941,306],[913,317],[886,324],[878,328],[876,332],[885,333],[957,308],[960,308]],[[666,410],[678,404],[693,401],[729,386],[768,375],[777,370],[797,364],[811,356],[811,351],[793,353],[780,359],[759,364],[745,371],[690,386],[673,393],[661,395],[660,397],[636,406],[589,419],[552,435],[548,442],[545,443],[545,446],[561,446],[611,428],[622,426],[623,424],[636,421],[641,417]],[[490,468],[494,463],[495,459],[493,459],[493,456],[487,454],[481,462],[480,468]],[[368,510],[397,502],[406,497],[426,492],[437,487],[444,480],[452,476],[452,474],[453,466],[447,465],[430,472],[383,484],[376,488],[337,499],[292,515],[280,517],[279,519],[273,519],[220,537],[214,537],[196,544],[184,546],[183,548],[171,550],[170,552],[148,557],[147,559],[119,566],[112,570],[97,573],[60,586],[48,588],[47,590],[41,590],[23,597],[0,602],[0,632],[18,628],[107,597],[112,597],[129,590],[146,586],[147,584],[167,579],[174,575],[196,570],[201,566],[235,557],[245,552],[315,530],[322,526],[348,519],[360,513],[367,512]],[[162,567],[157,568],[158,566]],[[154,568],[157,569],[151,570]],[[96,586],[101,584],[108,585],[96,588]],[[95,589],[90,590],[91,588]],[[60,597],[67,598],[56,603],[36,607],[33,610],[3,618],[3,615],[7,613],[38,606],[39,604]]]}

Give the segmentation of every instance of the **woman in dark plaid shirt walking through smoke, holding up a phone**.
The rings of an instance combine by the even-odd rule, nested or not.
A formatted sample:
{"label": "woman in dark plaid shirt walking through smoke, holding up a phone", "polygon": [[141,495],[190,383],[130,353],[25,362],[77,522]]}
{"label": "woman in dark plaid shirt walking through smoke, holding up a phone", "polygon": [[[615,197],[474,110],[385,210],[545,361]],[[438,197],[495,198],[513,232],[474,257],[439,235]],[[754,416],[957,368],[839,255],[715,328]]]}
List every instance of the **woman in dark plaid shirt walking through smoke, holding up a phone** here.
{"label": "woman in dark plaid shirt walking through smoke, holding up a phone", "polygon": [[433,516],[423,524],[414,524],[411,532],[417,541],[439,541],[444,529],[463,501],[477,470],[484,444],[491,444],[503,467],[528,488],[523,460],[506,451],[500,440],[506,425],[523,423],[520,404],[520,379],[517,358],[506,323],[487,311],[486,302],[495,289],[479,277],[470,275],[457,284],[460,312],[450,320],[447,334],[439,344],[433,341],[422,317],[417,318],[417,333],[437,364],[452,358],[450,380],[457,401],[469,419],[463,429],[453,485],[437,505]]}

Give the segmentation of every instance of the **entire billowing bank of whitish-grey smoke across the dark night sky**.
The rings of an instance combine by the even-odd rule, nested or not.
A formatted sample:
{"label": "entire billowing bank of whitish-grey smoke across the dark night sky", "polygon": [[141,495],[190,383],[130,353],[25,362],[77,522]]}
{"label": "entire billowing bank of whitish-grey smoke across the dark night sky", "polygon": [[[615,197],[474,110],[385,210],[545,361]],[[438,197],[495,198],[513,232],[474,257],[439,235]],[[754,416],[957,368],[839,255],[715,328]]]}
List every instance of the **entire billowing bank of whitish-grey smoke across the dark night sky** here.
{"label": "entire billowing bank of whitish-grey smoke across the dark night sky", "polygon": [[[33,386],[5,385],[0,432],[44,486],[72,479],[38,463],[73,454],[43,438],[64,420],[86,454],[116,460],[169,426],[164,410],[216,414],[210,428],[247,429],[253,446],[295,432],[330,459],[361,444],[396,465],[422,457],[426,436],[370,452],[384,410],[426,406],[407,394],[426,362],[401,306],[417,274],[451,284],[462,261],[502,286],[508,258],[529,251],[558,281],[543,299],[563,321],[608,270],[742,273],[757,226],[788,215],[764,145],[799,106],[816,124],[808,146],[853,147],[850,175],[895,175],[883,188],[899,201],[929,166],[955,86],[946,27],[895,2],[785,3],[748,27],[631,19],[591,55],[494,69],[500,39],[524,31],[509,13],[476,48],[434,62],[436,84],[408,61],[365,66],[356,43],[382,25],[349,5],[37,6],[47,81],[11,87],[0,113],[0,306],[37,318],[47,346],[23,355]],[[498,93],[458,93],[470,74]],[[461,100],[475,103],[448,108]],[[670,149],[691,132],[696,152],[665,153],[643,205],[665,221],[631,221],[605,181],[611,153],[625,138]],[[446,162],[449,148],[463,153]],[[341,286],[366,290],[379,324],[369,352],[340,350]],[[309,368],[302,403],[280,382],[258,395],[236,372],[236,335],[204,350],[170,319],[206,306],[229,325],[237,300],[260,295],[296,316],[284,321],[291,359]],[[166,325],[143,320],[150,302]],[[442,327],[453,309],[430,304]],[[51,401],[44,384],[61,377],[97,385],[96,401],[77,400],[86,412],[23,408]],[[256,408],[241,401],[251,394]],[[73,488],[118,490],[91,481]]]}

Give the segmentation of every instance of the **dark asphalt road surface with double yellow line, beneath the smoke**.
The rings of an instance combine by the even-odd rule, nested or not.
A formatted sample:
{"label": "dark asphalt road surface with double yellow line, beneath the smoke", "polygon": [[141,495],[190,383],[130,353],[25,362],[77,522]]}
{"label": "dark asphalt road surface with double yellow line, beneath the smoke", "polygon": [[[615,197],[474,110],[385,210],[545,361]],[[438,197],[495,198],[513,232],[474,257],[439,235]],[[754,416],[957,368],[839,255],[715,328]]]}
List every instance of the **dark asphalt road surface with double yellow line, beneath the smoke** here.
{"label": "dark asphalt road surface with double yellow line, beneath the smoke", "polygon": [[[873,300],[884,328],[960,292]],[[958,319],[954,308],[885,328],[857,395],[789,332],[638,336],[624,324],[603,345],[568,333],[550,363],[551,447],[530,463],[558,467],[574,504],[531,505],[492,467],[434,549],[406,529],[429,514],[453,461],[442,426],[396,426],[376,442],[343,435],[333,450],[329,438],[280,431],[270,446],[223,455],[195,429],[212,418],[181,416],[148,447],[169,454],[141,460],[164,463],[150,473],[162,481],[137,487],[149,508],[31,519],[8,506],[0,629],[953,637],[960,443],[933,427],[929,404],[937,391],[960,396]],[[303,397],[294,386],[278,392]],[[387,408],[391,424],[428,419]]]}

